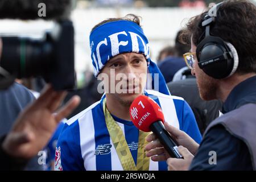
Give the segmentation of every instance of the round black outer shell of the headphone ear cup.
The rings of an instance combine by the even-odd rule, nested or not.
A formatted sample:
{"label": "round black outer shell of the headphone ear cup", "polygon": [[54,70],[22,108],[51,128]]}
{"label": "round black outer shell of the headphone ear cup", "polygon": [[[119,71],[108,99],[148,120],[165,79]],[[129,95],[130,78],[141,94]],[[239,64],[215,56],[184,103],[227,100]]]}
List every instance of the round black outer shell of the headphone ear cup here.
{"label": "round black outer shell of the headphone ear cup", "polygon": [[[199,67],[210,77],[221,79],[228,77],[233,70],[233,56],[222,39],[209,36],[197,50]],[[226,58],[223,56],[226,54]],[[221,58],[222,57],[222,58]]]}

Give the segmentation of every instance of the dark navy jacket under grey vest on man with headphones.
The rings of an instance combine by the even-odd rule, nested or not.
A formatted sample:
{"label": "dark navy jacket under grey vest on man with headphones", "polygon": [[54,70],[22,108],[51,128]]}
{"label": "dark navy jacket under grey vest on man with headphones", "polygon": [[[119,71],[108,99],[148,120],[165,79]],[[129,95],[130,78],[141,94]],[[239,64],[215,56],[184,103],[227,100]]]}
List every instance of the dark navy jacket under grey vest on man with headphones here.
{"label": "dark navy jacket under grey vest on man with headphones", "polygon": [[[246,115],[250,118],[256,116],[253,111],[242,114],[237,113],[240,111],[241,106],[247,104],[256,104],[256,76],[248,78],[247,80],[238,84],[232,92],[230,92],[226,99],[222,113],[236,112],[238,115],[245,115],[241,122],[246,122]],[[256,110],[255,110],[256,112]],[[235,117],[235,116],[232,116]],[[234,118],[229,118],[230,122],[234,121]],[[237,117],[235,117],[237,119]],[[249,118],[249,117],[248,117]],[[250,121],[250,122],[254,122]],[[256,138],[256,129],[255,137]],[[246,131],[243,131],[245,133]],[[217,154],[217,164],[209,164],[209,151],[214,151]],[[251,154],[247,143],[240,137],[234,135],[232,131],[229,131],[224,125],[215,125],[204,134],[204,138],[200,144],[199,150],[195,158],[192,161],[191,170],[253,170],[253,163],[251,160]]]}

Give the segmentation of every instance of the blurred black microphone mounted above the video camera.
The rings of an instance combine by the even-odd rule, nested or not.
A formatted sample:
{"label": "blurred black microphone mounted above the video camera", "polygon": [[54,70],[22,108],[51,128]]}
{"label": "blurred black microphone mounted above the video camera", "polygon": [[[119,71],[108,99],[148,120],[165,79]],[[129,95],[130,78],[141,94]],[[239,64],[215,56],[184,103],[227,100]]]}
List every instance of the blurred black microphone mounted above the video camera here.
{"label": "blurred black microphone mounted above the video camera", "polygon": [[[46,16],[39,17],[39,4],[46,5]],[[42,5],[42,4],[41,4]],[[72,10],[72,0],[1,0],[0,19],[22,20],[64,20],[68,19]]]}

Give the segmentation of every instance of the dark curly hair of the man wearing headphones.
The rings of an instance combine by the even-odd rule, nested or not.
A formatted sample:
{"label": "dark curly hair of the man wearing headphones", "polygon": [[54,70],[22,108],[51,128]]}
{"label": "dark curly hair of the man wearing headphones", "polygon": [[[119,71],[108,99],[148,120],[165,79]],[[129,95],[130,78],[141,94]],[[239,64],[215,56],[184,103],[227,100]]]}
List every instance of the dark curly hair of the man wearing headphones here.
{"label": "dark curly hair of the man wearing headphones", "polygon": [[[205,27],[201,26],[208,12],[194,16],[181,33],[181,42],[197,46],[204,39]],[[233,44],[239,57],[238,73],[256,72],[256,7],[247,0],[230,0],[222,3],[210,34]]]}

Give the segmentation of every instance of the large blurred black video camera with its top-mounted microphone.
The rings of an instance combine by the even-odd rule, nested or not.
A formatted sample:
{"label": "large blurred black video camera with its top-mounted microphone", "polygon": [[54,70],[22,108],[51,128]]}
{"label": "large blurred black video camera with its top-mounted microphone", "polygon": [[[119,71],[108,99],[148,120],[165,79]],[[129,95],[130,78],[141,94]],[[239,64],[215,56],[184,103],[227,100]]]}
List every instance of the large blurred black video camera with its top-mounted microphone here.
{"label": "large blurred black video camera with its top-mounted microphone", "polygon": [[56,26],[42,39],[1,37],[0,89],[8,88],[15,78],[37,76],[56,90],[76,86],[74,28],[68,19],[71,0],[1,0],[0,19],[38,19],[39,3],[46,5],[46,16],[42,18],[55,20]]}

